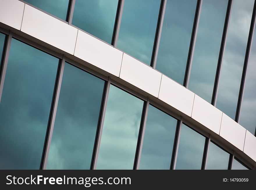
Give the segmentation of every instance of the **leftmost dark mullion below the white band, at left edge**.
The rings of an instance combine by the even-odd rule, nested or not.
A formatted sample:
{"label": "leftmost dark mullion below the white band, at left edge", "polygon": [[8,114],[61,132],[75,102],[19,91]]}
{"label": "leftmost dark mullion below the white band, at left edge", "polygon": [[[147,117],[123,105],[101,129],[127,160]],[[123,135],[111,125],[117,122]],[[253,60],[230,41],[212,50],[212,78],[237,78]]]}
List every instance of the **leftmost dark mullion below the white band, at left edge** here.
{"label": "leftmost dark mullion below the white band, at left edge", "polygon": [[8,64],[8,58],[9,58],[9,54],[10,54],[12,37],[13,37],[13,35],[10,32],[9,35],[7,36],[5,51],[4,51],[4,55],[3,55],[3,62],[2,62],[2,66],[1,66],[1,75],[0,75],[0,102],[1,102],[1,97],[2,97],[2,93],[3,93],[3,84],[4,84],[4,79],[5,79],[5,74],[6,74],[7,64]]}

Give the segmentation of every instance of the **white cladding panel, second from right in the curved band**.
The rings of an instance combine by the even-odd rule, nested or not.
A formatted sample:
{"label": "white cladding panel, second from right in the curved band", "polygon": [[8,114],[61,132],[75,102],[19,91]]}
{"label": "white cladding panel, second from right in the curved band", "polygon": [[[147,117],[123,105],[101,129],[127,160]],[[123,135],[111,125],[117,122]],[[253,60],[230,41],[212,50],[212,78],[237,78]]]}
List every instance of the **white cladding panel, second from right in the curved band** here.
{"label": "white cladding panel, second from right in the curved band", "polygon": [[220,136],[243,151],[246,129],[223,113]]}

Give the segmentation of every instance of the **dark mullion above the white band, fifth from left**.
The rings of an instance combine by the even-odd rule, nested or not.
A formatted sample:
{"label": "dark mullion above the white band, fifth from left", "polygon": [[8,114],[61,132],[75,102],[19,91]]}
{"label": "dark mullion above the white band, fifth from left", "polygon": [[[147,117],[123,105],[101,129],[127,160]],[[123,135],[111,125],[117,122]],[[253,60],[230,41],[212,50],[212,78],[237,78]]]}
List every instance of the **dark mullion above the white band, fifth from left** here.
{"label": "dark mullion above the white band, fifth from left", "polygon": [[216,106],[216,101],[217,101],[218,83],[219,83],[219,78],[221,75],[223,55],[224,55],[224,51],[225,51],[225,47],[226,47],[226,37],[227,37],[227,31],[228,31],[228,27],[229,27],[229,23],[230,23],[230,15],[231,15],[231,11],[232,11],[232,5],[233,5],[233,0],[229,0],[228,5],[227,5],[227,13],[226,13],[226,18],[225,18],[225,23],[224,23],[223,33],[222,33],[220,53],[219,53],[216,75],[215,75],[215,80],[214,80],[213,93],[212,93],[212,98],[211,98],[211,104],[214,106]]}

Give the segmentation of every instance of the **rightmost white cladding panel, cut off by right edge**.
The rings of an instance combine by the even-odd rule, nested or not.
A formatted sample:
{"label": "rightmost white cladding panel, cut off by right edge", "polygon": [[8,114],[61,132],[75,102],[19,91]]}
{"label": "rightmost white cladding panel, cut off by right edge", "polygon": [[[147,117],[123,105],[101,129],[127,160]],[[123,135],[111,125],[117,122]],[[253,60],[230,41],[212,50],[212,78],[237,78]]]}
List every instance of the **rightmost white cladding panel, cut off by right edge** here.
{"label": "rightmost white cladding panel, cut off by right edge", "polygon": [[256,162],[256,137],[246,130],[243,152]]}

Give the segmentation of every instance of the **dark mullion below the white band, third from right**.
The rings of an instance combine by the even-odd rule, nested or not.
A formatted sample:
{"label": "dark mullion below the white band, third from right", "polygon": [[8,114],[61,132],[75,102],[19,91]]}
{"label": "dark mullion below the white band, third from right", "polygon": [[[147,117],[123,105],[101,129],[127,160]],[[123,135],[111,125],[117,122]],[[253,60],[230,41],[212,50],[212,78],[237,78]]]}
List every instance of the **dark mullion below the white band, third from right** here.
{"label": "dark mullion below the white band, third from right", "polygon": [[182,119],[177,122],[175,139],[174,139],[174,143],[173,143],[173,153],[172,153],[171,165],[170,165],[171,170],[175,170],[175,168],[176,168],[181,127],[182,127]]}

